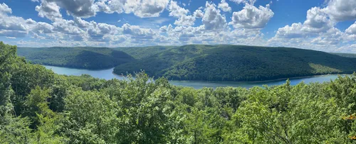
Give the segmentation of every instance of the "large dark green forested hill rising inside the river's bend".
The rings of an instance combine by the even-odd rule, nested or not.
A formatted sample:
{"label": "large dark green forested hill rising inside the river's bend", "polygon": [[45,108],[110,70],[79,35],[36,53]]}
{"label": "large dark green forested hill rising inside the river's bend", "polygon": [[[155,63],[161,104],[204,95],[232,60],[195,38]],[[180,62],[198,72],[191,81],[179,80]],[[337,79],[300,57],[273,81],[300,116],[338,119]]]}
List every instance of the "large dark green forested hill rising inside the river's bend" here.
{"label": "large dark green forested hill rising inside the river's bend", "polygon": [[352,73],[356,59],[297,48],[184,45],[115,67],[175,80],[262,81],[315,74]]}

